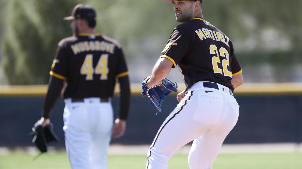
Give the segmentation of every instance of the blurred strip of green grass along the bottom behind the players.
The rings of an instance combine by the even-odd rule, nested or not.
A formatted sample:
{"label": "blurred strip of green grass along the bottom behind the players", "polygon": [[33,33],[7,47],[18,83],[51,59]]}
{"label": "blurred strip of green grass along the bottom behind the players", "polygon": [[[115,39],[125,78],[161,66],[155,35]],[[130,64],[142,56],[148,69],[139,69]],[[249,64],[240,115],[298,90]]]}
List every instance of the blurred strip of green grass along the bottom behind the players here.
{"label": "blurred strip of green grass along the bottom behind the players", "polygon": [[[71,168],[65,152],[34,155],[11,152],[0,156],[0,169],[67,169]],[[189,169],[188,155],[174,155],[169,169]],[[143,169],[146,155],[109,155],[108,169]],[[302,153],[220,154],[213,169],[301,169]]]}

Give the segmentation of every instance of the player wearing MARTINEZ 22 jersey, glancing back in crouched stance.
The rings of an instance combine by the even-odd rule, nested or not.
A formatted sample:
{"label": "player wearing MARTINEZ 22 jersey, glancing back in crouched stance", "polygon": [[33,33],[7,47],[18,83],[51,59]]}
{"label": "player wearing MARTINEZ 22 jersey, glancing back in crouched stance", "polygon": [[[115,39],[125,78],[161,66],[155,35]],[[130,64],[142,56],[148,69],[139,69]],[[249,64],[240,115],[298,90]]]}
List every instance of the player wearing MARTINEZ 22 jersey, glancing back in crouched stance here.
{"label": "player wearing MARTINEZ 22 jersey, glancing back in crouched stance", "polygon": [[182,24],[173,29],[147,84],[159,84],[178,65],[186,89],[150,146],[146,168],[168,168],[169,158],[194,140],[190,168],[210,169],[238,119],[233,90],[243,82],[242,70],[230,38],[203,18],[201,0],[164,1],[174,5]]}

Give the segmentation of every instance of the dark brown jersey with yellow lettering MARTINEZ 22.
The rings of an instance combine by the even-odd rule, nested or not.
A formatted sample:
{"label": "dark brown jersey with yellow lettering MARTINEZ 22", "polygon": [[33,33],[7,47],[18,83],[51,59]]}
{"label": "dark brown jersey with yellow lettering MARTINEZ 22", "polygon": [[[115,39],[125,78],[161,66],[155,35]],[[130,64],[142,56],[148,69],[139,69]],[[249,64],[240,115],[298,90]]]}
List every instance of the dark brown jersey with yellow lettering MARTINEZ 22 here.
{"label": "dark brown jersey with yellow lettering MARTINEZ 22", "polygon": [[219,83],[234,90],[232,76],[242,72],[232,41],[201,17],[173,29],[160,57],[181,69],[186,91],[198,81]]}

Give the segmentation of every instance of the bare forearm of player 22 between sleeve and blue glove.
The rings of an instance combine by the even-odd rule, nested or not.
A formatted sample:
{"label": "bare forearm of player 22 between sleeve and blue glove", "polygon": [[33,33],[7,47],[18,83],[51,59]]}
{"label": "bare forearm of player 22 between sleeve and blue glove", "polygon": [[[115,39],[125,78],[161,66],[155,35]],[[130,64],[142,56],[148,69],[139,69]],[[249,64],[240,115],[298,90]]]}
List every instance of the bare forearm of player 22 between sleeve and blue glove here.
{"label": "bare forearm of player 22 between sleeve and blue glove", "polygon": [[164,57],[159,58],[153,68],[151,78],[147,81],[148,86],[152,87],[156,84],[160,84],[162,79],[168,76],[172,66],[173,63],[171,60]]}

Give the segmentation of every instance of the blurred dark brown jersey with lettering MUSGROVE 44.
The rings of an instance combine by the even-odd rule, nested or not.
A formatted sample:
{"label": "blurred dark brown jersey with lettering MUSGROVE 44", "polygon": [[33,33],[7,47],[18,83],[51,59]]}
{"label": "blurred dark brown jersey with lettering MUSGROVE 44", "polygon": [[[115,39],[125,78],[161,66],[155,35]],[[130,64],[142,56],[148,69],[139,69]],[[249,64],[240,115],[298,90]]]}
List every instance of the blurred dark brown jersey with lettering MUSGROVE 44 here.
{"label": "blurred dark brown jersey with lettering MUSGROVE 44", "polygon": [[59,42],[50,75],[67,81],[64,98],[112,97],[116,77],[128,75],[120,44],[80,33]]}

